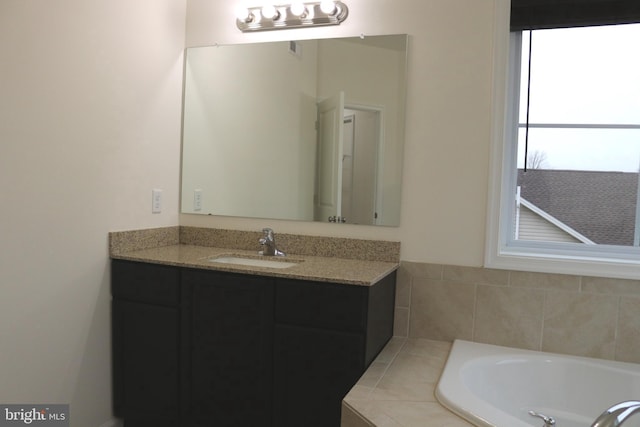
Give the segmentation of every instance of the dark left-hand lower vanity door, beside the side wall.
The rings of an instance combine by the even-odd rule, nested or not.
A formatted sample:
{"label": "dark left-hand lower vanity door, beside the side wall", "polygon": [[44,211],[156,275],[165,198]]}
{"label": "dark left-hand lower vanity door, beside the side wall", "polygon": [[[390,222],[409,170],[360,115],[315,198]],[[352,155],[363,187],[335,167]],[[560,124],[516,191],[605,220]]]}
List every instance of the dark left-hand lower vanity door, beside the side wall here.
{"label": "dark left-hand lower vanity door, beside the side wall", "polygon": [[127,426],[177,426],[178,309],[112,304],[115,414]]}

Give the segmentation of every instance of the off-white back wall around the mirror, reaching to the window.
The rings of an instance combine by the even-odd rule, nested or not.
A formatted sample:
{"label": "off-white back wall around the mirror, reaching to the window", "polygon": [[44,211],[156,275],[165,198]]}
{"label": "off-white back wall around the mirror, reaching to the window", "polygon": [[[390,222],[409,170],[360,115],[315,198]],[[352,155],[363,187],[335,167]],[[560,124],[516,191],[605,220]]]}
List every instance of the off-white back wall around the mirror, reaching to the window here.
{"label": "off-white back wall around the mirror, reaching to the window", "polygon": [[[483,262],[495,10],[504,0],[349,0],[338,27],[245,34],[240,0],[189,0],[187,46],[408,33],[401,225],[379,228],[181,215],[183,225],[400,240],[402,259]],[[251,3],[251,5],[259,2]]]}

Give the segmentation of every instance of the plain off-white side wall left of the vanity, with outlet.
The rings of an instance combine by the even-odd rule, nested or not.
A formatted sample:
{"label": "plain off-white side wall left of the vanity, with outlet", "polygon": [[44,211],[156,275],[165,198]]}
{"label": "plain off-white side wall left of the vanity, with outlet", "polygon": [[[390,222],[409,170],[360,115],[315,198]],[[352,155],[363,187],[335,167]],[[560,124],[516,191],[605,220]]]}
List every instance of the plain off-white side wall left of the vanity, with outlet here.
{"label": "plain off-white side wall left of the vanity, with outlet", "polygon": [[2,403],[111,418],[107,233],[178,223],[185,8],[0,2]]}

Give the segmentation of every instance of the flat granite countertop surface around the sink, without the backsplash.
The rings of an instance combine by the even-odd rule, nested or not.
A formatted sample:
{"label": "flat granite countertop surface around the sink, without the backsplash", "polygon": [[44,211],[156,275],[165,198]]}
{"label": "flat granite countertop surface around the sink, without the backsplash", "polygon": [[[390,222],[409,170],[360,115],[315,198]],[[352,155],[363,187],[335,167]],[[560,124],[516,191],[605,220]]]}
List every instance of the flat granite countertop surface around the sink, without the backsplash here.
{"label": "flat granite countertop surface around the sink, without the backsplash", "polygon": [[[297,265],[276,269],[211,262],[211,258],[235,255],[249,258],[293,261]],[[168,245],[136,251],[112,253],[112,259],[174,265],[178,267],[228,271],[288,279],[313,280],[370,286],[398,268],[396,262],[367,261],[334,257],[290,255],[286,257],[261,257],[257,251],[216,248],[198,245]]]}

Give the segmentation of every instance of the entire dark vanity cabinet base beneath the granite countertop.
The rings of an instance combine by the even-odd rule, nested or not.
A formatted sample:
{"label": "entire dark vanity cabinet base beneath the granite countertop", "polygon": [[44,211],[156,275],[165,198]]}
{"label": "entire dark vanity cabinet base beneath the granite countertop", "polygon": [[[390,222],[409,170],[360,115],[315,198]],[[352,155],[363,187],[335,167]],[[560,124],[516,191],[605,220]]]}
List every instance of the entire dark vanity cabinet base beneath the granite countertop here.
{"label": "entire dark vanity cabinet base beneath the granite countertop", "polygon": [[392,335],[373,286],[112,261],[114,412],[125,427],[338,427]]}

